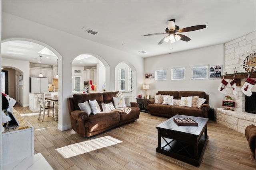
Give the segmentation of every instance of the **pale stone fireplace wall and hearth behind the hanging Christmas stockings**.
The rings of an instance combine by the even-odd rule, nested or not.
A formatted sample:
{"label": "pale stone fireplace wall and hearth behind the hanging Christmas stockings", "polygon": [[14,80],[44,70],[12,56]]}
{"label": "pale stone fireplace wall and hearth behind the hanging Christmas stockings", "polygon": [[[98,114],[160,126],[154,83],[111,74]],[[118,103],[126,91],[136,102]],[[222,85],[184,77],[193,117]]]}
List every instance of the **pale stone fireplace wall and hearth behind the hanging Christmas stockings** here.
{"label": "pale stone fireplace wall and hearth behind the hanging Christmas stockings", "polygon": [[[248,33],[242,37],[234,39],[225,44],[225,72],[233,74],[237,72],[246,72],[241,66],[241,62],[247,54],[256,51],[256,31]],[[224,78],[225,79],[225,78]],[[256,78],[253,78],[256,80]],[[226,79],[225,79],[226,80]],[[246,78],[241,79],[241,86],[236,86],[237,95],[232,94],[232,87],[227,86],[227,95],[236,102],[234,111],[228,111],[218,108],[216,113],[217,123],[223,124],[230,129],[244,133],[245,127],[251,124],[256,125],[256,114],[245,112],[245,95],[241,91]],[[230,82],[231,80],[227,80]],[[256,85],[252,88],[256,92]]]}

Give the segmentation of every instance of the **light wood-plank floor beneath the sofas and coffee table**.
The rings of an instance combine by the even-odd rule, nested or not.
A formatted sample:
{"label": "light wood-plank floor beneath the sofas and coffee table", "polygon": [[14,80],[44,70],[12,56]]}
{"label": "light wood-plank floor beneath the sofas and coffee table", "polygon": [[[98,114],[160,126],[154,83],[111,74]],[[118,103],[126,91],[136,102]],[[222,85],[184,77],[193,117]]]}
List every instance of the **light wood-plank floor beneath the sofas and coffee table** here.
{"label": "light wood-plank floor beneath the sofas and coffee table", "polygon": [[34,153],[41,152],[54,170],[256,170],[244,134],[216,121],[208,121],[209,141],[196,167],[156,152],[156,125],[164,117],[141,112],[132,123],[87,138],[58,130],[52,117],[37,120],[28,107],[14,108],[34,126]]}

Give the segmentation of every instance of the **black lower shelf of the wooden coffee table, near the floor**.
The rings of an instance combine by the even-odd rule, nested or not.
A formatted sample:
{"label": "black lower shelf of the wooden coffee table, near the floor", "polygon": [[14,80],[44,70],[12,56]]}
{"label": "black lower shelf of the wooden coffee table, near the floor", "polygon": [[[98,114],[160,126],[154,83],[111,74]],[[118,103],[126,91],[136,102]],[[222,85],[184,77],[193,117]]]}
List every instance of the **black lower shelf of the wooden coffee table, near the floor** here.
{"label": "black lower shelf of the wooden coffee table, near the floor", "polygon": [[194,158],[194,147],[191,145],[191,143],[184,143],[173,139],[168,139],[166,137],[162,138],[165,141],[161,143],[161,148],[156,148],[156,152],[187,162],[194,166],[200,165],[208,142],[208,135],[202,135],[198,142],[198,159]]}

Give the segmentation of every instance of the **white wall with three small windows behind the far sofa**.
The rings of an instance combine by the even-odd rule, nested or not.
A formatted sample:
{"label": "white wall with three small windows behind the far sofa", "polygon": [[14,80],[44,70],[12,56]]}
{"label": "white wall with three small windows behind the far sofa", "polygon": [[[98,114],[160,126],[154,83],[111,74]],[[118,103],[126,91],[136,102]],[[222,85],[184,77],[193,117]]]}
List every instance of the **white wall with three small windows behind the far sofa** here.
{"label": "white wall with three small windows behind the far sofa", "polygon": [[[186,42],[178,42],[186,43]],[[221,82],[220,79],[203,79],[191,80],[191,66],[209,66],[209,65],[225,65],[225,46],[215,45],[200,49],[193,49],[179,53],[171,53],[170,55],[162,55],[145,59],[145,72],[154,73],[155,70],[167,69],[167,80],[156,81],[152,79],[144,79],[144,83],[150,84],[151,97],[156,95],[159,90],[177,90],[177,91],[204,91],[209,94],[210,107],[217,109],[222,106],[222,95],[217,88]],[[185,67],[185,80],[170,80],[170,68]],[[224,68],[222,69],[224,70]],[[141,75],[144,77],[144,75]],[[141,87],[141,93],[144,94]]]}

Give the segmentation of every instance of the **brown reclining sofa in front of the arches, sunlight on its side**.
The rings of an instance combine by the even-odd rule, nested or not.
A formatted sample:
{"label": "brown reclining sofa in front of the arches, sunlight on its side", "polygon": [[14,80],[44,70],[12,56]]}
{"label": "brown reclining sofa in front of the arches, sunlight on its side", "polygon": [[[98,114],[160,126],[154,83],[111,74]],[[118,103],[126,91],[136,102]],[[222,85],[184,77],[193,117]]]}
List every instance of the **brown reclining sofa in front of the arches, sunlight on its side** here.
{"label": "brown reclining sofa in front of the arches, sunlight on its side", "polygon": [[[72,129],[83,137],[90,137],[139,118],[138,103],[130,102],[131,107],[116,108],[112,111],[102,111],[102,103],[110,103],[118,92],[74,94],[68,98],[68,109]],[[97,114],[88,114],[78,106],[88,100],[96,99],[101,111]]]}

